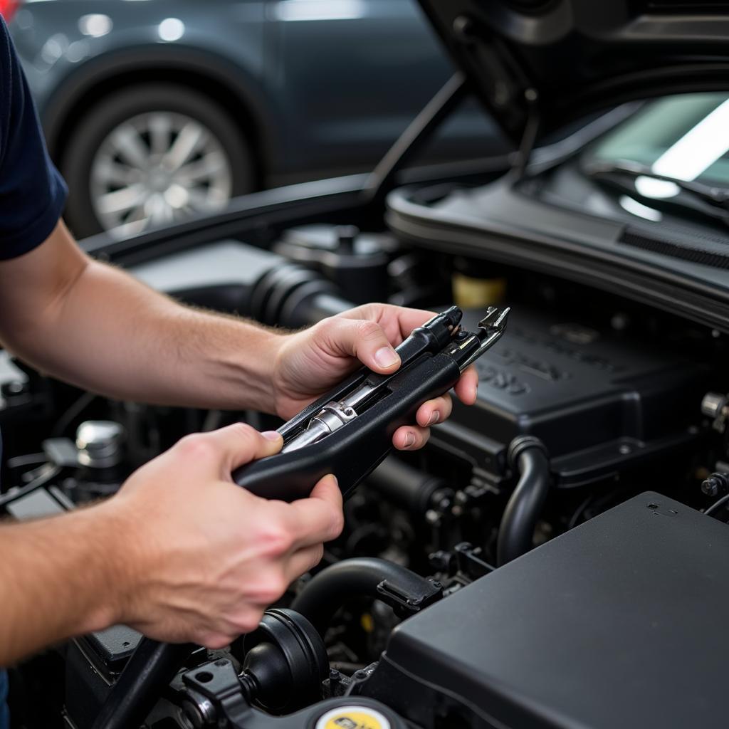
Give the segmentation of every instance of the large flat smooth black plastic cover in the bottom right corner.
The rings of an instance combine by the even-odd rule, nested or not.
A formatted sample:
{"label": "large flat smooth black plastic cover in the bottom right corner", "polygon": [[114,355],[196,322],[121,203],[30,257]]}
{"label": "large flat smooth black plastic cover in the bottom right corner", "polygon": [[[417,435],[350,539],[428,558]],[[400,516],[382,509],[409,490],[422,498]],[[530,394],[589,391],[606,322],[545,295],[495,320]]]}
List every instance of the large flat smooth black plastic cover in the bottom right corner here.
{"label": "large flat smooth black plastic cover in the bottom right corner", "polygon": [[399,625],[367,695],[426,728],[725,728],[728,553],[636,496]]}

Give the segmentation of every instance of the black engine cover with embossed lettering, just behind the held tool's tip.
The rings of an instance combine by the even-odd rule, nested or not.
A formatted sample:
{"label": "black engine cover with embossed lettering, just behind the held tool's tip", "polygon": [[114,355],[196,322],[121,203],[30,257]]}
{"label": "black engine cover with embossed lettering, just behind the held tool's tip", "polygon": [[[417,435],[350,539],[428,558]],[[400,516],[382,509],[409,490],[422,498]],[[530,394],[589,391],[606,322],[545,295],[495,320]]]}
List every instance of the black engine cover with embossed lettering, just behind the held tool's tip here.
{"label": "black engine cover with embossed lettering, just behind the held tool's tip", "polygon": [[[467,311],[472,328],[483,311]],[[446,450],[494,479],[505,450],[532,434],[547,446],[558,486],[599,480],[695,439],[706,363],[655,343],[599,332],[515,307],[506,333],[478,361],[475,408],[456,406],[434,430]]]}

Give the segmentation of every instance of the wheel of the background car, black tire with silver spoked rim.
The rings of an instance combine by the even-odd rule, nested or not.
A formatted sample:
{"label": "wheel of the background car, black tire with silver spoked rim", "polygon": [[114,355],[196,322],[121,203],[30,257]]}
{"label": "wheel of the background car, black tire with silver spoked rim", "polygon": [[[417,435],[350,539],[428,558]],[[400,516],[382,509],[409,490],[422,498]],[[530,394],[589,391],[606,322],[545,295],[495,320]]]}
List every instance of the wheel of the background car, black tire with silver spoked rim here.
{"label": "wheel of the background car, black tire with silver spoked rim", "polygon": [[[93,235],[113,227],[110,218],[114,216],[110,216],[106,210],[109,207],[107,204],[109,198],[102,200],[101,194],[103,190],[113,191],[115,182],[112,181],[109,186],[104,186],[103,181],[101,181],[102,186],[100,187],[99,176],[101,173],[99,170],[110,167],[110,158],[114,170],[117,170],[116,162],[120,160],[120,157],[118,155],[113,157],[114,144],[116,144],[115,140],[117,139],[114,137],[116,133],[124,130],[128,134],[130,125],[134,125],[136,130],[144,128],[144,124],[153,123],[150,121],[153,119],[157,120],[155,122],[157,126],[160,125],[160,120],[163,119],[166,120],[167,124],[174,122],[176,126],[182,125],[184,120],[194,122],[209,135],[205,136],[206,149],[211,146],[211,149],[215,152],[215,155],[210,155],[208,152],[206,159],[215,157],[216,160],[225,160],[225,165],[227,165],[230,174],[223,175],[222,178],[218,175],[215,179],[216,187],[214,188],[211,185],[206,186],[203,184],[200,186],[203,195],[214,199],[213,202],[204,201],[205,206],[209,205],[211,208],[208,210],[206,207],[204,211],[212,212],[214,211],[213,208],[224,207],[224,205],[219,204],[222,198],[230,199],[235,195],[243,195],[255,189],[257,175],[252,151],[243,137],[243,130],[235,123],[231,114],[223,106],[198,90],[183,85],[156,83],[125,87],[106,96],[103,101],[100,101],[79,118],[61,155],[61,174],[63,174],[69,186],[66,221],[77,238]],[[177,139],[173,132],[170,133],[169,138],[171,140]],[[145,139],[144,135],[141,135],[141,139]],[[151,148],[151,137],[147,136],[146,139]],[[172,143],[171,141],[170,144]],[[219,147],[216,147],[215,143]],[[218,149],[222,150],[222,157],[218,154]],[[151,152],[151,149],[149,149],[149,152]],[[120,161],[132,170],[124,173],[125,178],[128,174],[134,174],[136,180],[135,165],[128,165],[127,160]],[[222,165],[222,161],[219,163]],[[160,168],[160,165],[156,165],[156,168]],[[151,174],[147,172],[141,175],[144,177],[144,183],[133,183],[137,186],[136,192],[139,192],[139,189],[149,191],[147,187],[139,188],[139,184],[147,184]],[[218,184],[219,179],[222,179],[225,184]],[[155,181],[156,187],[153,189],[157,190],[157,187],[164,184],[164,182]],[[174,192],[180,193],[178,187],[179,185]],[[170,188],[167,188],[167,192],[169,190]],[[167,192],[160,188],[160,192],[155,193],[160,196],[162,206],[167,204],[165,202]],[[180,197],[181,195],[177,194],[177,198]],[[184,198],[184,192],[182,198]],[[227,199],[225,202],[227,202]],[[192,200],[192,196],[190,196],[190,200]],[[156,202],[159,202],[157,198],[155,198]],[[174,206],[171,207],[174,218],[162,220],[162,223],[176,222],[176,220],[182,219],[185,214],[190,212],[188,208],[192,208],[192,203],[188,208],[179,204],[176,200],[173,200],[173,203]],[[202,203],[199,206],[203,207]],[[104,209],[100,211],[100,208]],[[155,208],[155,215],[157,212]],[[140,214],[137,212],[137,217]],[[169,216],[170,213],[167,212],[166,214]],[[159,224],[160,220],[157,219],[147,227]],[[117,229],[117,233],[128,235],[139,232],[136,230],[139,225],[126,225],[124,228]]]}

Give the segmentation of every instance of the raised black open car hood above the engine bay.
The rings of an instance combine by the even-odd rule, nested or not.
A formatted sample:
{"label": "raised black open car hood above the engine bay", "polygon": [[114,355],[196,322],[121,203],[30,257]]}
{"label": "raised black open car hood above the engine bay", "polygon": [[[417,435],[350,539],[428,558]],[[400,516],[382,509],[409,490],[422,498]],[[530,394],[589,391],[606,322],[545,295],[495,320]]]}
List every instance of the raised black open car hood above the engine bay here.
{"label": "raised black open car hood above the engine bay", "polygon": [[625,101],[729,89],[729,1],[419,1],[515,144]]}

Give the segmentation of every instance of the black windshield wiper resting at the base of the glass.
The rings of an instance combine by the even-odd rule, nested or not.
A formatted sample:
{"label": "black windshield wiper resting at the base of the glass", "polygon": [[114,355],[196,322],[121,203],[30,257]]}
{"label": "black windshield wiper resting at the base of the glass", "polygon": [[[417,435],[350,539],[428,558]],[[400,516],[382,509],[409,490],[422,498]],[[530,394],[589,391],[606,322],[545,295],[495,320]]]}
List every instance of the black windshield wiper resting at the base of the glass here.
{"label": "black windshield wiper resting at the base of the glass", "polygon": [[[592,179],[615,184],[644,200],[692,208],[729,223],[729,188],[656,174],[648,165],[628,160],[593,160],[582,165],[582,171]],[[674,198],[645,195],[635,184],[636,179],[641,177],[670,182],[676,185],[683,194]],[[689,202],[687,198],[693,198],[693,200]]]}

